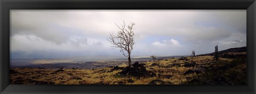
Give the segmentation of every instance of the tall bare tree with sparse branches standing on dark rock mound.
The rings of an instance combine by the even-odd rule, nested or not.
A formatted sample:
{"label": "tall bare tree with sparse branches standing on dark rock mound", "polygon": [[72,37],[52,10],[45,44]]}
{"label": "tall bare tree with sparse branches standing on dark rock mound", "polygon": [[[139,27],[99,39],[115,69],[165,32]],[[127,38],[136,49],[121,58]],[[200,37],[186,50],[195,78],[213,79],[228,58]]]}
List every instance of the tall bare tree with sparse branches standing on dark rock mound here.
{"label": "tall bare tree with sparse branches standing on dark rock mound", "polygon": [[113,33],[110,33],[108,41],[112,45],[114,45],[111,47],[121,48],[120,52],[123,52],[123,55],[128,57],[128,66],[131,67],[131,52],[134,45],[133,26],[135,25],[135,23],[131,22],[130,25],[127,25],[127,29],[125,29],[125,25],[125,22],[121,26],[116,24],[119,31],[117,32],[117,35],[113,35]]}

